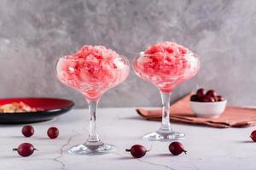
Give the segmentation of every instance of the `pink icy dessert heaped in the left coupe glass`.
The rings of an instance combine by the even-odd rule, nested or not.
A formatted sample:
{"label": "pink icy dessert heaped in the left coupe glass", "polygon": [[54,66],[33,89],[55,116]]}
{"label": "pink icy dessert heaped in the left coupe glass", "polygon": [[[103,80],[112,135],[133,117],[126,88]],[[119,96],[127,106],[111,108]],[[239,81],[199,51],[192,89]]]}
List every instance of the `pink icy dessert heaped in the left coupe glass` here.
{"label": "pink icy dessert heaped in the left coupe glass", "polygon": [[109,88],[124,82],[129,74],[129,61],[112,49],[84,45],[76,54],[61,58],[57,77],[87,99],[99,99]]}

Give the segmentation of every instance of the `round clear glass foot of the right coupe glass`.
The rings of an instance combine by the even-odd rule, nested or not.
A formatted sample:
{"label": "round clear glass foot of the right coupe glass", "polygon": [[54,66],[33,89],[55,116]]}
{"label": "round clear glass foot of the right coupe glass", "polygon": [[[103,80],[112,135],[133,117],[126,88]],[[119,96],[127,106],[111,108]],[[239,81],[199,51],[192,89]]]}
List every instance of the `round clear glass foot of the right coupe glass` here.
{"label": "round clear glass foot of the right coupe glass", "polygon": [[179,140],[185,137],[184,133],[177,133],[174,131],[167,131],[167,132],[160,132],[156,131],[153,133],[147,133],[143,136],[144,140],[151,140],[151,141],[172,141],[172,140]]}

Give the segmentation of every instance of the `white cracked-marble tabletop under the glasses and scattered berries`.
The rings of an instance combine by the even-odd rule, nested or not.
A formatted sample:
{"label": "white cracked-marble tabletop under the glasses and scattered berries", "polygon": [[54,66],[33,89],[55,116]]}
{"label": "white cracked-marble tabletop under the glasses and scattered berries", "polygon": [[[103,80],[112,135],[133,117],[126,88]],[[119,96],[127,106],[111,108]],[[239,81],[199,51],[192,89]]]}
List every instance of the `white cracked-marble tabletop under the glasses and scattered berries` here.
{"label": "white cracked-marble tabletop under the glasses and scattered berries", "polygon": [[[73,156],[67,149],[83,143],[88,135],[87,110],[73,110],[55,121],[33,124],[35,134],[24,138],[22,125],[0,125],[0,169],[256,169],[256,143],[249,135],[256,127],[213,128],[173,123],[172,127],[186,133],[182,143],[187,155],[172,156],[169,142],[148,142],[141,139],[144,133],[157,129],[160,122],[149,122],[138,116],[135,108],[99,109],[98,133],[103,142],[115,144],[117,150],[101,156]],[[48,139],[48,127],[60,129],[58,139]],[[21,157],[12,149],[20,143],[30,142],[38,151]],[[125,148],[143,144],[153,149],[141,159],[134,159]]]}

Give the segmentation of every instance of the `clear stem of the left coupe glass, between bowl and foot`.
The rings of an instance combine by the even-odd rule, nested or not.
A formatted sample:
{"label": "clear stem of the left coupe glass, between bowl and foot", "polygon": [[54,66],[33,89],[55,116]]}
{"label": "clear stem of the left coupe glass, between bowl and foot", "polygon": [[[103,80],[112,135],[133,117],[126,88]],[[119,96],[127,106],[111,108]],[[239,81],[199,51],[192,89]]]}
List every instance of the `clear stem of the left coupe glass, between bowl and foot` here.
{"label": "clear stem of the left coupe glass, between bowl and foot", "polygon": [[87,142],[99,142],[99,135],[96,131],[96,109],[99,102],[99,99],[96,100],[87,100],[89,105],[90,112],[90,125],[89,125],[89,137]]}

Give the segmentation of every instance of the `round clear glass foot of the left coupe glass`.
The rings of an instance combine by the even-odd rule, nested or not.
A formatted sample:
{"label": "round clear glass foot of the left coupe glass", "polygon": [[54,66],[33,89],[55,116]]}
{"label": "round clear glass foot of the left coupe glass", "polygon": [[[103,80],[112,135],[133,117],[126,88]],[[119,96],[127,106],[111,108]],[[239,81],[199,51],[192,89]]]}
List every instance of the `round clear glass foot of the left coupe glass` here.
{"label": "round clear glass foot of the left coupe glass", "polygon": [[112,144],[77,144],[68,150],[73,155],[102,155],[115,150]]}

